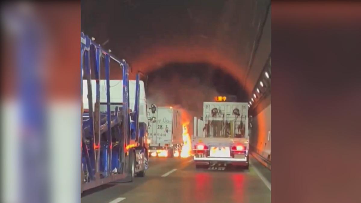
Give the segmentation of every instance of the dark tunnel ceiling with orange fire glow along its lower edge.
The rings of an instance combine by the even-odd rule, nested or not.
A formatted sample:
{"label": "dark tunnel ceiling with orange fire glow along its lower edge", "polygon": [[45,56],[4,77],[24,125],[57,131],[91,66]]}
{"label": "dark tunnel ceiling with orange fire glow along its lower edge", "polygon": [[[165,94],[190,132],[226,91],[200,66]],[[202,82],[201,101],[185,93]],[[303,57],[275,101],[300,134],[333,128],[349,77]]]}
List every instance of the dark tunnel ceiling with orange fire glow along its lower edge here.
{"label": "dark tunnel ceiling with orange fire glow along its lower edge", "polygon": [[[172,62],[205,62],[224,68],[244,84],[249,74],[257,75],[248,66],[269,4],[82,0],[81,30],[135,70],[151,73]],[[118,71],[112,67],[112,74]]]}

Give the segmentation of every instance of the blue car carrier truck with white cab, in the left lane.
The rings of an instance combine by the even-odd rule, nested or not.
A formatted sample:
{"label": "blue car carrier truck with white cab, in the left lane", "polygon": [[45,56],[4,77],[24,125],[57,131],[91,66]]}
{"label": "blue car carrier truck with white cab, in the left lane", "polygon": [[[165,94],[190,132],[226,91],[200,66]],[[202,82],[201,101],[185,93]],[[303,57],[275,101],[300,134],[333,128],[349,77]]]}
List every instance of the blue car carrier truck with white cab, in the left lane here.
{"label": "blue car carrier truck with white cab, in the left lane", "polygon": [[[122,69],[121,79],[109,79],[110,60]],[[100,79],[101,67],[105,68],[105,79]],[[156,106],[148,108],[144,82],[139,78],[138,73],[135,80],[129,80],[125,60],[81,33],[81,192],[145,176],[147,111],[155,112]]]}

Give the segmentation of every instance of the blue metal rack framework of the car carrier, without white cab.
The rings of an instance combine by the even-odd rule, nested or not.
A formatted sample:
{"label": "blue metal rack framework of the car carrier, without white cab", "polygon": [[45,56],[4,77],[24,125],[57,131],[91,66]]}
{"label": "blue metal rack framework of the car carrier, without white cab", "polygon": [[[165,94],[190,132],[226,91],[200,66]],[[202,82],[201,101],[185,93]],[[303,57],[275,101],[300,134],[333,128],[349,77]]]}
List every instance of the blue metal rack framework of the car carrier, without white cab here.
{"label": "blue metal rack framework of the car carrier, without white cab", "polygon": [[[106,112],[100,112],[101,58],[105,62]],[[123,71],[121,109],[110,109],[110,59],[116,61]],[[136,75],[134,122],[131,124],[128,71],[129,65],[125,60],[112,56],[81,33],[81,192],[120,180],[130,173],[126,157],[132,147],[137,146],[139,136],[139,74]],[[92,77],[96,81],[94,108]],[[83,109],[83,80],[87,81],[87,112]],[[135,136],[131,136],[131,131]]]}

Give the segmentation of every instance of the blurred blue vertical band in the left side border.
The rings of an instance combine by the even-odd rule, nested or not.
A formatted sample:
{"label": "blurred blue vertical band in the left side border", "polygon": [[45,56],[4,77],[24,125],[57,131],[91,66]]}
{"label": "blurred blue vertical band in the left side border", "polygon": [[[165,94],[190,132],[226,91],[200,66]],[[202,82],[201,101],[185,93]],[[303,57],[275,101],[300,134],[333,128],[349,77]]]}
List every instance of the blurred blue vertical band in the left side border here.
{"label": "blurred blue vertical band in the left side border", "polygon": [[[21,12],[17,13],[22,15]],[[15,15],[15,14],[14,14]],[[23,19],[22,19],[23,17]],[[47,172],[48,137],[45,133],[45,98],[43,82],[40,78],[42,32],[37,21],[20,16],[21,31],[17,34],[16,57],[18,78],[17,86],[20,103],[21,122],[21,196],[29,203],[49,202]],[[20,20],[20,22],[19,22]],[[14,124],[16,125],[16,124]],[[35,161],[36,160],[36,161]]]}

